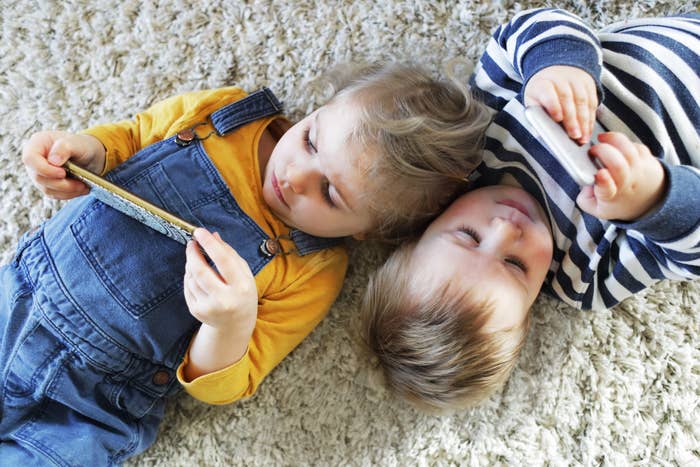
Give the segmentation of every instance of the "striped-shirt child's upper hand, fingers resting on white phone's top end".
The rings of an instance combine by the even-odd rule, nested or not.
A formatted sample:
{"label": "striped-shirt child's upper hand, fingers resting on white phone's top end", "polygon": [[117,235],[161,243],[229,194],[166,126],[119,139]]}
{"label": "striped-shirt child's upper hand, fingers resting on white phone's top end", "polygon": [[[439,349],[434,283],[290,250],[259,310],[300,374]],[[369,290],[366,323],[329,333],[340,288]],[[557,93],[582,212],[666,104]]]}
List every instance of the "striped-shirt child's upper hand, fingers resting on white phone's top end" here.
{"label": "striped-shirt child's upper hand, fingers resting on white phone's top end", "polygon": [[554,121],[563,121],[571,139],[581,144],[590,141],[598,93],[586,71],[565,65],[543,68],[527,82],[523,97],[526,106],[542,106]]}

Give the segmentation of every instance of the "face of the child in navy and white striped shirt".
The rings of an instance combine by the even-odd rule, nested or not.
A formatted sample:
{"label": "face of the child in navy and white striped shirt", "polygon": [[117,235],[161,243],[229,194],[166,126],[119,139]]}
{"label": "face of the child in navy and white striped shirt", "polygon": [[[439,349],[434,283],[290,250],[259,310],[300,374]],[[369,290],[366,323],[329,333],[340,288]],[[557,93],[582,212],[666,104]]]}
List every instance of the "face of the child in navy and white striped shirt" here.
{"label": "face of the child in navy and white striped shirt", "polygon": [[505,185],[458,198],[430,224],[413,252],[423,277],[468,285],[503,305],[487,323],[494,330],[522,322],[551,260],[552,235],[541,206],[522,189]]}

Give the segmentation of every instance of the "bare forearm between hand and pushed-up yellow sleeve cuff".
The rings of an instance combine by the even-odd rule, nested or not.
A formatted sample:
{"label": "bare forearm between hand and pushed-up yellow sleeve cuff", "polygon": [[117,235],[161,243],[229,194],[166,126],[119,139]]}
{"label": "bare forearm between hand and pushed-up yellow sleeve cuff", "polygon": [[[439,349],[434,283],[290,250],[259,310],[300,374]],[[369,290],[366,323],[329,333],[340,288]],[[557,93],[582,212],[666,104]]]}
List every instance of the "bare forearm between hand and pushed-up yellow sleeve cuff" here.
{"label": "bare forearm between hand and pushed-up yellow sleeve cuff", "polygon": [[255,322],[240,323],[234,329],[222,330],[202,324],[193,337],[189,362],[183,368],[187,381],[227,368],[238,362],[248,349]]}

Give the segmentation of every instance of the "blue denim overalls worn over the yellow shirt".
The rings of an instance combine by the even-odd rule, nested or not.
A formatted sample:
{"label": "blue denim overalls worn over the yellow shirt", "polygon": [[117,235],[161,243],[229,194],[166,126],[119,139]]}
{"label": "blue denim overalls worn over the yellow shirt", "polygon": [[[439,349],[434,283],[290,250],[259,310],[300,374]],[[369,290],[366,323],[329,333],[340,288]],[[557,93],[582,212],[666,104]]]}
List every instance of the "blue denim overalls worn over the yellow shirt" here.
{"label": "blue denim overalls worn over the yellow shirt", "polygon": [[[213,137],[280,110],[258,91],[210,116]],[[272,259],[260,248],[268,236],[201,142],[182,143],[153,144],[108,178],[219,232],[257,274]],[[300,254],[337,244],[292,238]],[[0,464],[118,464],[154,441],[199,324],[185,304],[184,267],[182,244],[91,195],[24,235],[0,270]]]}

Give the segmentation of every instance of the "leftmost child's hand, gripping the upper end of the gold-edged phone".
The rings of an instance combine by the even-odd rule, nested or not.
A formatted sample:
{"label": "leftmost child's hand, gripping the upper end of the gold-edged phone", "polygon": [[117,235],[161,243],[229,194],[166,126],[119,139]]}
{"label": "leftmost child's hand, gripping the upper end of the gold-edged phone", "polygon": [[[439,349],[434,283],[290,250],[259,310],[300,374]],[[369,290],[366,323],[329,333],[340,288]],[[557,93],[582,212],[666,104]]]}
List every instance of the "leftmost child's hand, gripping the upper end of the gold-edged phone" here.
{"label": "leftmost child's hand, gripping the upper end of the gold-edged phone", "polygon": [[105,148],[95,137],[65,131],[34,133],[22,147],[22,162],[29,178],[44,194],[54,199],[71,199],[87,194],[83,182],[67,178],[61,167],[68,159],[99,173],[105,162]]}

